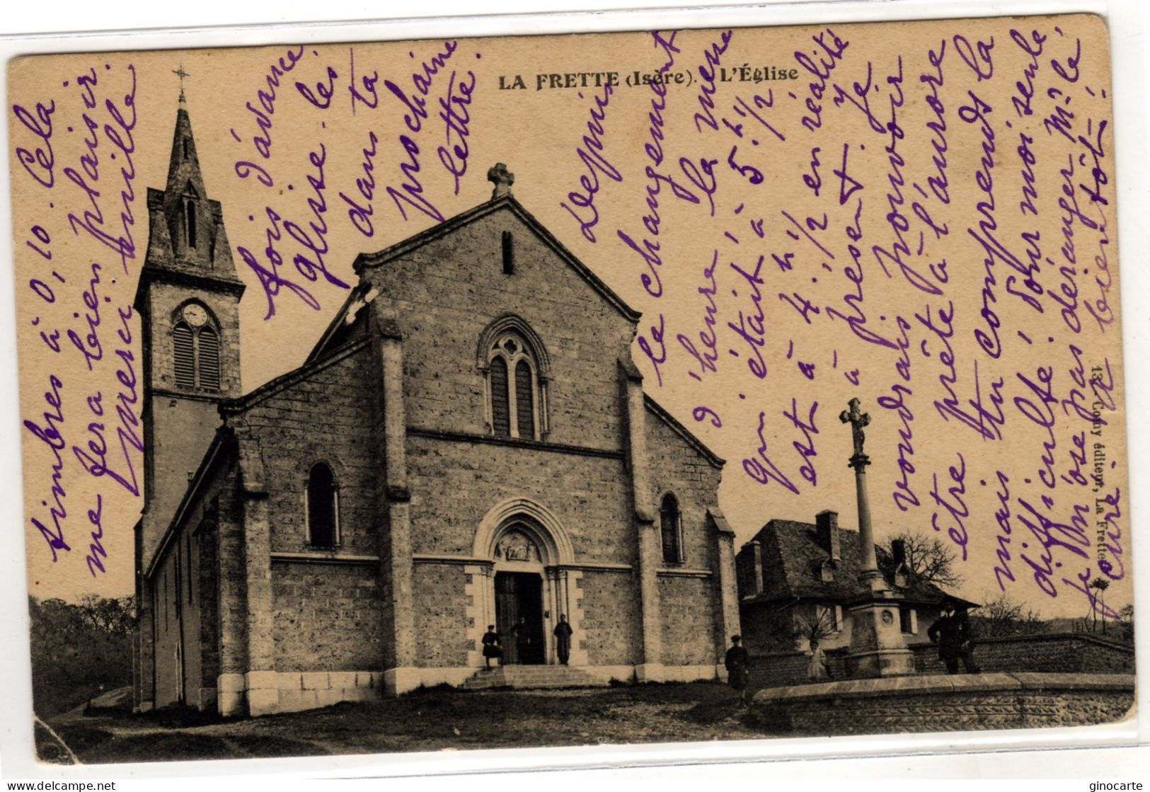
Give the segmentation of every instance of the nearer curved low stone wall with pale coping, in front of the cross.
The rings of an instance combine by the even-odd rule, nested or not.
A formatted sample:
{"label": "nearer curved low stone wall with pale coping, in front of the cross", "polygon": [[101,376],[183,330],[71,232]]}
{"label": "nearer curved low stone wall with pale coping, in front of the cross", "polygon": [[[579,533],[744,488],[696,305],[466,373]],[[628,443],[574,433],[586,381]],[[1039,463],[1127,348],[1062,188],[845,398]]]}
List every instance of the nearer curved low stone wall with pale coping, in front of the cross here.
{"label": "nearer curved low stone wall with pale coping, in front of the cross", "polygon": [[765,689],[751,712],[775,733],[834,736],[1094,725],[1133,706],[1133,675],[1021,672]]}

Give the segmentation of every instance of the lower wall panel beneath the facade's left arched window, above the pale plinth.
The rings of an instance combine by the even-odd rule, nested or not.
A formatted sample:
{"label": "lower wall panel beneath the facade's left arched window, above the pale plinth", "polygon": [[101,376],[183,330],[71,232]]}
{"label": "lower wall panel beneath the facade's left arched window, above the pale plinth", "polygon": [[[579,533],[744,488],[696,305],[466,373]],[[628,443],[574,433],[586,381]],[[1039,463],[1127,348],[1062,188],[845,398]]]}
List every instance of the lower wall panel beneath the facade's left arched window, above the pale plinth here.
{"label": "lower wall panel beneath the facade's left arched window, above the pale plinth", "polygon": [[274,563],[277,671],[381,669],[375,564]]}

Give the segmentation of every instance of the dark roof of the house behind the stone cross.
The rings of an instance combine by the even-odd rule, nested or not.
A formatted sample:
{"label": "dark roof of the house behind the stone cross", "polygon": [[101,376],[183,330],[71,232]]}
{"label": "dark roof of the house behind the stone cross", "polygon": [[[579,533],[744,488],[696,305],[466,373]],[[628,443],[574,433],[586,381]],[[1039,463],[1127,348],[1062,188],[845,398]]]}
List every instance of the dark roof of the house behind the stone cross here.
{"label": "dark roof of the house behind the stone cross", "polygon": [[[812,523],[793,520],[772,520],[756,536],[762,546],[762,591],[744,602],[780,602],[815,600],[845,603],[864,593],[858,576],[861,569],[861,543],[858,531],[830,529],[838,537],[839,561],[834,567],[833,579],[822,579],[822,567],[829,553],[819,541],[818,528]],[[875,545],[879,569],[888,583],[894,584],[895,562],[890,553]],[[953,597],[967,607],[976,603],[943,591],[933,583],[908,577],[905,586],[895,591],[911,603],[937,605],[945,595]]]}

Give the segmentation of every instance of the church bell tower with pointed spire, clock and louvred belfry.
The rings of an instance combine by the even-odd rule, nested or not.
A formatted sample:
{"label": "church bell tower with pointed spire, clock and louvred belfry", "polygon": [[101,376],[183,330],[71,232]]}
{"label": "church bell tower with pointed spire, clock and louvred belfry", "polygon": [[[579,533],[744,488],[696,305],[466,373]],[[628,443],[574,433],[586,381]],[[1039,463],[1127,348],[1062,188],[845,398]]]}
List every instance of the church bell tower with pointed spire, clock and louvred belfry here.
{"label": "church bell tower with pointed spire, clock and louvred belfry", "polygon": [[168,183],[147,191],[148,246],[136,290],[144,377],[145,487],[137,569],[146,568],[212,443],[220,401],[240,395],[239,299],[218,201],[208,198],[181,68]]}

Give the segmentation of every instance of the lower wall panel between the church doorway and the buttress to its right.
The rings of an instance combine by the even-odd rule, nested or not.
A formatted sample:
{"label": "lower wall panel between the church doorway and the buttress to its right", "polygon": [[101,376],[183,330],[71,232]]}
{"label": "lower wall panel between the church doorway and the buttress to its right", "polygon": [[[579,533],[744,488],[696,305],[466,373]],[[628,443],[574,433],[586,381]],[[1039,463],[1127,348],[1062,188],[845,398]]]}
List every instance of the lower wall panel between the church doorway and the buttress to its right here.
{"label": "lower wall panel between the church doorway and the buttress to its right", "polygon": [[639,662],[643,626],[636,577],[627,572],[586,570],[580,584],[588,663],[632,666]]}

